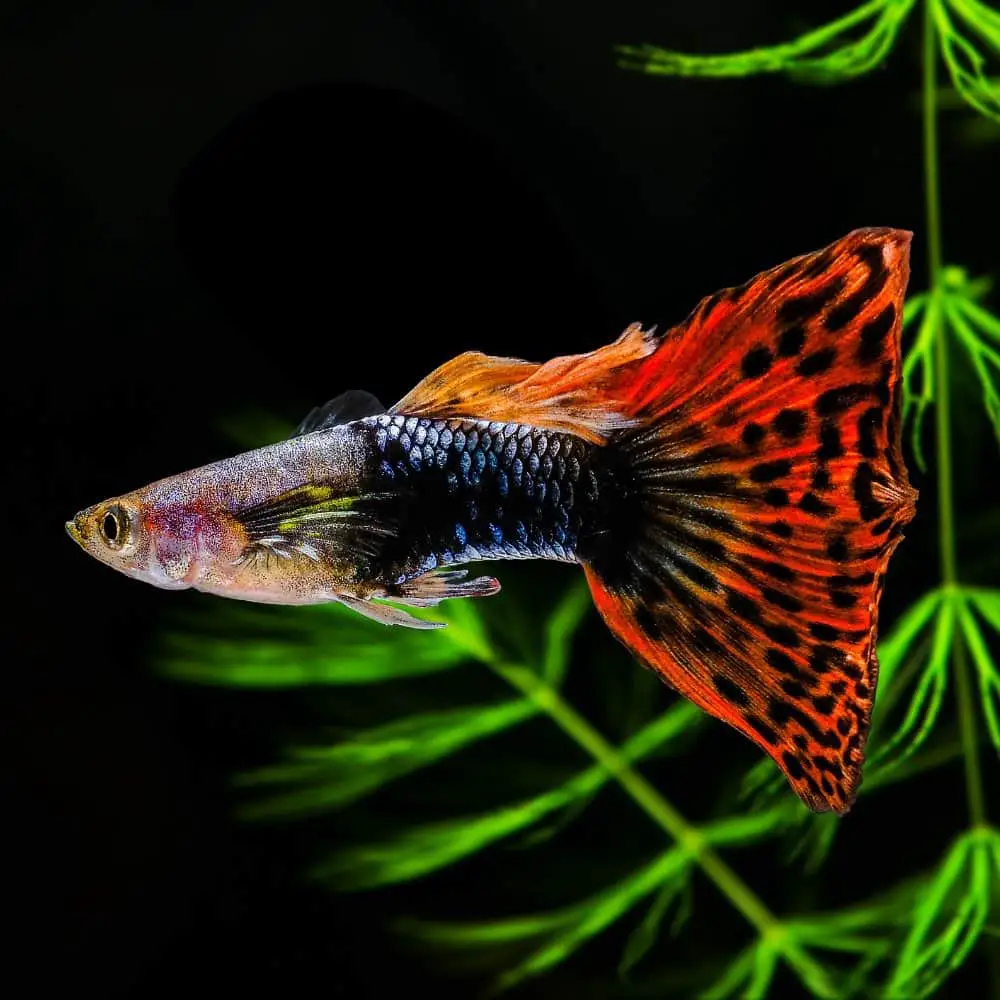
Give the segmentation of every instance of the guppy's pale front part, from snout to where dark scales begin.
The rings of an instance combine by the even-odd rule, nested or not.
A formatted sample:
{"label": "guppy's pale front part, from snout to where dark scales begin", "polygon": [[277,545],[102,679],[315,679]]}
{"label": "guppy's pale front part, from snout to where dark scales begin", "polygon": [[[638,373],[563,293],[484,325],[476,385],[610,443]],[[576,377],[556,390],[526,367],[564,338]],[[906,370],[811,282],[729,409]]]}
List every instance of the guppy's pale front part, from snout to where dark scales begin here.
{"label": "guppy's pale front part, from snout to where dark scales begin", "polygon": [[98,561],[157,587],[303,604],[355,593],[392,527],[359,496],[365,439],[295,437],[80,511],[66,530]]}

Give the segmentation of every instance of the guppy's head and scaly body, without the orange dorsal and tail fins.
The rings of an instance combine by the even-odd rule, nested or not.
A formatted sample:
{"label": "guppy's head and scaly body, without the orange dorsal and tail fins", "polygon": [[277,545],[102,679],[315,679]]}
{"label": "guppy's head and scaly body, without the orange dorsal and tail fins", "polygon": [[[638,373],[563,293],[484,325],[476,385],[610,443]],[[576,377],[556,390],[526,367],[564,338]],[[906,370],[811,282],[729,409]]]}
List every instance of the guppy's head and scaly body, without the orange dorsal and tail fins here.
{"label": "guppy's head and scaly body, without the orange dorsal and tail fins", "polygon": [[413,580],[471,561],[576,561],[614,486],[600,458],[566,432],[383,413],[160,480],[67,529],[167,589],[277,604],[404,597]]}

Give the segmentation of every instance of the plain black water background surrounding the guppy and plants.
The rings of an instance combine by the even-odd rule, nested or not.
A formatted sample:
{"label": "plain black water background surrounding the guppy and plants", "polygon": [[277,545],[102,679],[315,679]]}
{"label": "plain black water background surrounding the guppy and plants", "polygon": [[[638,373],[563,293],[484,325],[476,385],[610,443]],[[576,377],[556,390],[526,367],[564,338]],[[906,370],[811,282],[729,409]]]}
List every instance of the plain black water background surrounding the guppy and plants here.
{"label": "plain black water background surrounding the guppy and plants", "polygon": [[[844,9],[809,5],[808,23]],[[218,421],[234,411],[297,421],[353,387],[392,401],[470,348],[590,350],[856,226],[915,230],[922,288],[916,24],[884,69],[836,88],[614,64],[616,42],[777,41],[806,27],[803,10],[289,0],[0,13],[4,826],[26,942],[13,951],[39,989],[466,995],[380,929],[398,901],[303,886],[291,834],[233,818],[229,775],[262,759],[295,704],[154,677],[150,637],[189,595],[98,567],[62,522],[225,454]],[[1000,263],[1000,210],[983,193],[1000,144],[963,142],[968,117],[942,121],[946,256],[980,273]],[[971,407],[976,390],[956,396]],[[988,433],[958,435],[963,520],[986,510],[996,461]],[[937,579],[934,489],[916,478],[888,619]],[[702,757],[676,780],[727,763]],[[913,816],[912,836],[893,831],[900,871],[961,828],[957,767],[887,798]],[[878,815],[857,819],[834,862],[846,898],[879,882]],[[773,877],[753,865],[751,882]]]}

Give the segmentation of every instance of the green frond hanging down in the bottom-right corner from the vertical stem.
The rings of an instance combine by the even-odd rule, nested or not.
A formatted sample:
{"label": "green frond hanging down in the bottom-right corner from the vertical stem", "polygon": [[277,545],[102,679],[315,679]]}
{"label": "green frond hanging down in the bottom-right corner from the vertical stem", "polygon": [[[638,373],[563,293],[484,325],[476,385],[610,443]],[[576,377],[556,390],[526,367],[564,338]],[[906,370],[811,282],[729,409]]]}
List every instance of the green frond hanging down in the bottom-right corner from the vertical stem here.
{"label": "green frond hanging down in the bottom-right corner from the vertical stem", "polygon": [[990,917],[1000,834],[972,829],[952,845],[911,912],[887,996],[929,997],[959,968]]}

